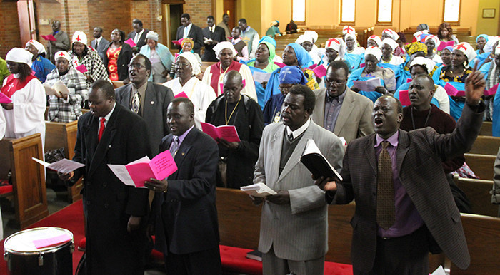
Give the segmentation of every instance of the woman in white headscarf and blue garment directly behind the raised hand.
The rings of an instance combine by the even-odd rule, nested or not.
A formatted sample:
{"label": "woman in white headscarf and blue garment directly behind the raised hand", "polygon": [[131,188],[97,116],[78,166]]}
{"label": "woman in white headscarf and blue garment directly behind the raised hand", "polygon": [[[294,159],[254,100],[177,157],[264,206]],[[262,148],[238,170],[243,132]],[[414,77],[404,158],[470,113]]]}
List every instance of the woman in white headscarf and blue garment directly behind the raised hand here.
{"label": "woman in white headscarf and blue garment directly behind the raised hand", "polygon": [[[476,51],[469,43],[458,43],[453,48],[451,66],[445,66],[441,69],[438,84],[444,87],[446,83],[449,83],[457,90],[465,90],[465,80],[469,73],[472,73],[469,62],[474,58],[476,58]],[[450,96],[450,115],[455,120],[459,120],[464,103],[465,97]]]}

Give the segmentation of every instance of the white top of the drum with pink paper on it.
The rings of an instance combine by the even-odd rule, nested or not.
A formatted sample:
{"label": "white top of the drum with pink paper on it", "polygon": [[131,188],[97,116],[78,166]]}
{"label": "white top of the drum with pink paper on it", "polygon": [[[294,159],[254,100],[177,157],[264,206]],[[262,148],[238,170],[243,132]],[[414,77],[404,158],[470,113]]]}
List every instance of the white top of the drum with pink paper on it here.
{"label": "white top of the drum with pink paper on it", "polygon": [[[38,254],[73,242],[73,233],[59,227],[38,227],[12,234],[4,242],[10,253]],[[38,247],[38,248],[37,248]]]}

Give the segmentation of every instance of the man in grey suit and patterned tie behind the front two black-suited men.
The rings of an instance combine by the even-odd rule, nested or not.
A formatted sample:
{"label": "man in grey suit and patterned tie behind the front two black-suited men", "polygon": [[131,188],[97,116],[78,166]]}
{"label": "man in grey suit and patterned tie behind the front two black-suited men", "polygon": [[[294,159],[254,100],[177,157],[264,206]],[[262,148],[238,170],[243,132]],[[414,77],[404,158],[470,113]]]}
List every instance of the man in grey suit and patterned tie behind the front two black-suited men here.
{"label": "man in grey suit and patterned tie behind the front two black-suited men", "polygon": [[129,63],[130,82],[115,90],[116,102],[146,120],[151,152],[158,154],[161,139],[170,133],[166,125],[166,109],[174,93],[170,88],[148,81],[151,61],[142,54],[134,56]]}

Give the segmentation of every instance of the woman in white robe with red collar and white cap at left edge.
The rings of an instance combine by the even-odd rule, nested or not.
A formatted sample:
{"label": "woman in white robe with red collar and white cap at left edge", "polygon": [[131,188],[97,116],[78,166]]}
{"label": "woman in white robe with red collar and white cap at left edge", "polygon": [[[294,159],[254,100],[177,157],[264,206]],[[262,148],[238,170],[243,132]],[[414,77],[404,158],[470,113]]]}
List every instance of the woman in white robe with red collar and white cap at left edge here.
{"label": "woman in white robe with red collar and white cap at left edge", "polygon": [[31,56],[24,48],[12,48],[5,58],[11,75],[4,79],[1,93],[12,100],[1,103],[6,120],[5,137],[40,133],[44,146],[46,95],[44,86],[31,75]]}

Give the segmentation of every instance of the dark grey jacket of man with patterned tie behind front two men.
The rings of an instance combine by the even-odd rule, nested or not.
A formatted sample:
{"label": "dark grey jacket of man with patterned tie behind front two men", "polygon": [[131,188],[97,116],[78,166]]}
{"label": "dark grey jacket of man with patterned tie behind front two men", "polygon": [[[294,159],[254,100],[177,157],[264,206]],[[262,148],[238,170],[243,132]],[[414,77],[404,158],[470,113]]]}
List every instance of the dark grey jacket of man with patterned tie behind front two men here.
{"label": "dark grey jacket of man with patterned tie behind front two men", "polygon": [[[171,100],[174,99],[174,93],[170,88],[164,85],[159,85],[148,81],[146,88],[146,96],[144,100],[144,109],[142,110],[142,118],[146,120],[151,152],[154,155],[158,154],[161,139],[170,133],[166,125],[166,108],[169,107]],[[125,108],[131,109],[130,93],[132,83],[121,86],[115,90],[116,102]]]}

